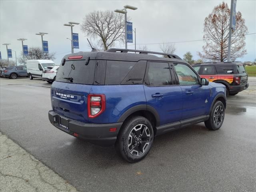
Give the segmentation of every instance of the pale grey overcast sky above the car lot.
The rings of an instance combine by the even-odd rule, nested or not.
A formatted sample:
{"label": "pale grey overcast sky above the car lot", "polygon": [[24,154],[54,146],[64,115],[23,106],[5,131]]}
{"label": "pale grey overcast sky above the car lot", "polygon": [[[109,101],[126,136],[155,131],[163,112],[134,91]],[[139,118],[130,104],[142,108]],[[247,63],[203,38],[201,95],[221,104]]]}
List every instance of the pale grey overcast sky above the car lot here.
{"label": "pale grey overcast sky above the car lot", "polygon": [[[41,37],[38,32],[48,32],[44,40],[48,41],[49,52],[56,52],[56,64],[59,64],[65,54],[71,52],[70,27],[63,26],[69,21],[80,22],[86,14],[94,10],[122,9],[126,4],[138,7],[128,10],[128,16],[136,28],[137,44],[181,42],[201,40],[203,36],[204,18],[212,12],[219,0],[179,0],[179,1],[0,1],[0,42],[2,58],[7,58],[6,46],[17,51],[17,57],[22,51],[18,38],[26,38],[25,45],[41,47]],[[230,6],[230,0],[224,0]],[[256,0],[237,0],[236,10],[242,13],[249,33],[256,32]],[[90,51],[80,25],[73,28],[79,34],[80,49],[75,52]],[[89,38],[90,39],[90,38]],[[124,44],[122,44],[124,48]],[[121,45],[121,46],[122,46]],[[202,51],[203,41],[176,43],[178,56],[190,51],[193,59],[198,59],[196,52]],[[143,45],[137,45],[137,49]],[[159,44],[147,45],[151,51],[160,51]],[[128,43],[128,48],[134,45]],[[247,54],[241,61],[253,61],[256,58],[256,34],[246,36]],[[12,53],[13,60],[15,54]]]}

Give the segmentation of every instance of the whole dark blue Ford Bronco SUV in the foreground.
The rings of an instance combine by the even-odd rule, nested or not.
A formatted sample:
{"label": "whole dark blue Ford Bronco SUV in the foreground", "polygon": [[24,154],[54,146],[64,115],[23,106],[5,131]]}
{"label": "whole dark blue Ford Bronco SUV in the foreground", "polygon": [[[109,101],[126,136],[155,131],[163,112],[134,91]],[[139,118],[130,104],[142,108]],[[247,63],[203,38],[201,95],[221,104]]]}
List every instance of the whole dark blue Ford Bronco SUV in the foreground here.
{"label": "whole dark blue Ford Bronco SUV in the foreground", "polygon": [[94,144],[114,144],[128,162],[142,160],[154,136],[199,122],[222,126],[224,85],[200,78],[176,55],[134,52],[65,56],[51,88],[50,122]]}

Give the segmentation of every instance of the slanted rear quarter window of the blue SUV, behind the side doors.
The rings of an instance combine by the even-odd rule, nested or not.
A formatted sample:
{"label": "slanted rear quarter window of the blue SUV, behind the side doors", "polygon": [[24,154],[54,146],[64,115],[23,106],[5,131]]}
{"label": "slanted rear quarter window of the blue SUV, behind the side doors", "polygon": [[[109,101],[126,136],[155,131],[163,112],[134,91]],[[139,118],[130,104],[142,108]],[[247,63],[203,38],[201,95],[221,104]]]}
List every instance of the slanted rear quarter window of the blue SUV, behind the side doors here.
{"label": "slanted rear quarter window of the blue SUV, behind the side doors", "polygon": [[105,84],[119,85],[135,64],[136,62],[128,61],[107,61]]}

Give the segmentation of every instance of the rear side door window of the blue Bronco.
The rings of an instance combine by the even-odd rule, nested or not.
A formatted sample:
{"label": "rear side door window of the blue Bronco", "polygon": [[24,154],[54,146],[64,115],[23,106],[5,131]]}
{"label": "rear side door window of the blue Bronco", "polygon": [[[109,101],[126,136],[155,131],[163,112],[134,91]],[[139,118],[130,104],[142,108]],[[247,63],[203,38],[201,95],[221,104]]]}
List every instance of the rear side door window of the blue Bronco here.
{"label": "rear side door window of the blue Bronco", "polygon": [[150,62],[146,84],[150,86],[171,85],[172,80],[168,63]]}

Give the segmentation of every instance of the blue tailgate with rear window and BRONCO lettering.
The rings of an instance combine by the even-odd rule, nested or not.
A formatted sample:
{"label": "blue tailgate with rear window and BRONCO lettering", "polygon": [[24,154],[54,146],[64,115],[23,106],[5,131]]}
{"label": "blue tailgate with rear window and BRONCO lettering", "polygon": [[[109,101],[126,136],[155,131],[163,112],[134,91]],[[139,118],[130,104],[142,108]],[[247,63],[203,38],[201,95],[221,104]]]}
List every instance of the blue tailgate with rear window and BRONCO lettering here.
{"label": "blue tailgate with rear window and BRONCO lettering", "polygon": [[95,60],[67,60],[52,84],[52,108],[61,116],[88,122],[87,96],[94,83]]}

